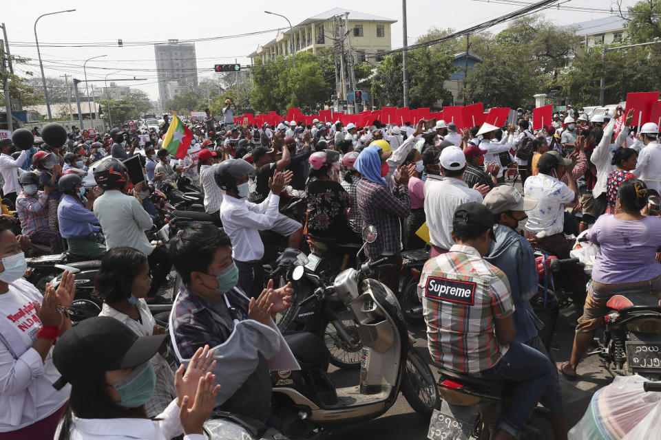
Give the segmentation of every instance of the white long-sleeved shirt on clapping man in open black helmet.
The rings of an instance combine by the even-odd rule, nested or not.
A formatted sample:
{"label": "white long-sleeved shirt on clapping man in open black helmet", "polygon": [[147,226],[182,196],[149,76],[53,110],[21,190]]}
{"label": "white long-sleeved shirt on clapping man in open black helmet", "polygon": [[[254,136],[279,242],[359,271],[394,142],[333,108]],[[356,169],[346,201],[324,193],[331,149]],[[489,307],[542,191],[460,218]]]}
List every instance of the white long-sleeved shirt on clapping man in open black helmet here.
{"label": "white long-sleeved shirt on clapping man in open black helmet", "polygon": [[232,254],[237,261],[255,261],[264,256],[260,230],[269,230],[277,220],[280,196],[269,193],[259,205],[245,199],[223,197],[220,221],[232,241]]}

